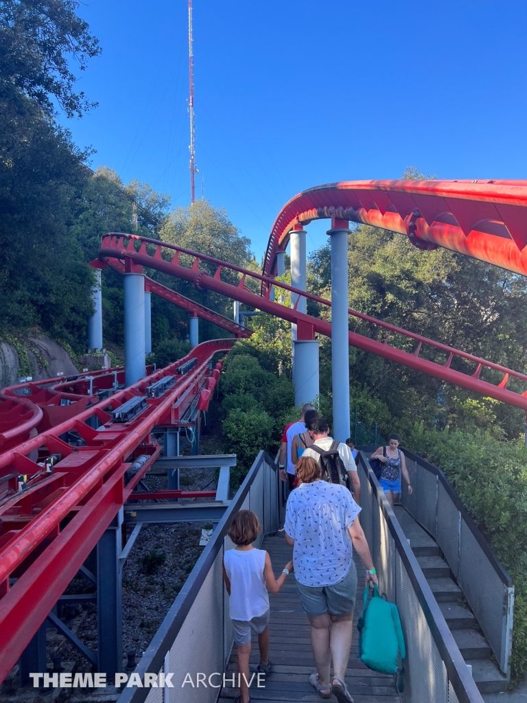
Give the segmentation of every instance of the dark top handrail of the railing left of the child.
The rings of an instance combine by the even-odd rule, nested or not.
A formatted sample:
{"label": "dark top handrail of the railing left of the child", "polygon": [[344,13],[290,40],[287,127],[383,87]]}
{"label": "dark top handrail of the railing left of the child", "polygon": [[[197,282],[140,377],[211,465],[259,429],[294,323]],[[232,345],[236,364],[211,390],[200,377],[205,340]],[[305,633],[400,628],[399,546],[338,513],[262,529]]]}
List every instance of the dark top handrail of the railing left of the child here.
{"label": "dark top handrail of the railing left of the child", "polygon": [[[141,680],[143,680],[145,673],[157,674],[163,668],[164,657],[174,644],[174,641],[176,640],[176,637],[185,622],[188,612],[190,612],[190,608],[193,606],[197,594],[200,593],[200,588],[207,578],[207,574],[209,574],[209,571],[214,564],[221,547],[223,546],[223,540],[230,527],[230,522],[233,515],[235,512],[240,510],[240,507],[242,506],[243,501],[245,501],[245,498],[249,493],[249,489],[264,462],[268,463],[274,471],[278,470],[278,466],[275,464],[273,459],[271,459],[266,451],[261,449],[258,456],[256,456],[252,467],[249,469],[244,482],[240,486],[240,489],[238,489],[233,500],[230,501],[230,505],[223,513],[223,517],[212,533],[212,537],[209,539],[207,546],[204,548],[195,563],[195,566],[192,572],[190,572],[185,585],[176,596],[176,600],[174,600],[169,612],[167,612],[164,617],[159,630],[155,633],[155,636],[152,638],[152,642],[148,645],[148,649],[145,651],[143,657],[141,657],[141,661],[136,666],[136,672],[141,677]],[[150,688],[125,688],[119,696],[119,703],[143,703],[149,692]]]}

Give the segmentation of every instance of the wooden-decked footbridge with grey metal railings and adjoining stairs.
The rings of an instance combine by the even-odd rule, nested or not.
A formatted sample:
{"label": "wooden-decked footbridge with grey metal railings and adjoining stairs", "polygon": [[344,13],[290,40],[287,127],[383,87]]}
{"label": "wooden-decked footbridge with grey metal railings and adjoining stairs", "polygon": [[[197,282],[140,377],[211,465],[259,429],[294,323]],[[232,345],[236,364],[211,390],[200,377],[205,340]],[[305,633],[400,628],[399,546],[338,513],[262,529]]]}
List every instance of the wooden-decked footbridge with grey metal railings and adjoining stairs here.
{"label": "wooden-decked footbridge with grey metal railings and adjoining stairs", "polygon": [[[408,650],[404,689],[400,696],[392,676],[363,666],[356,631],[348,685],[356,703],[481,703],[481,691],[503,690],[507,685],[512,583],[443,473],[410,452],[407,461],[416,491],[404,506],[396,508],[402,518],[398,520],[365,453],[359,458],[360,521],[380,590],[396,602],[403,624]],[[172,673],[174,688],[125,688],[119,703],[214,703],[218,696],[221,703],[228,703],[237,695],[232,685],[235,652],[221,568],[223,554],[233,548],[226,531],[238,510],[255,512],[263,525],[256,546],[270,552],[277,569],[292,555],[292,548],[278,532],[284,507],[281,491],[277,467],[261,451],[136,669],[141,678],[145,673]],[[364,569],[360,562],[357,566],[360,583]],[[475,572],[481,578],[474,579]],[[467,600],[464,606],[457,604],[461,589]],[[361,593],[360,585],[357,602]],[[270,631],[274,673],[264,688],[253,685],[252,700],[317,701],[308,683],[313,671],[308,621],[299,607],[293,580],[271,596]],[[253,650],[253,657],[256,653]],[[499,666],[491,660],[491,653]],[[224,671],[226,685],[214,688],[221,683],[218,676],[211,678],[213,685],[205,686],[210,674]],[[199,687],[197,673],[206,675]]]}

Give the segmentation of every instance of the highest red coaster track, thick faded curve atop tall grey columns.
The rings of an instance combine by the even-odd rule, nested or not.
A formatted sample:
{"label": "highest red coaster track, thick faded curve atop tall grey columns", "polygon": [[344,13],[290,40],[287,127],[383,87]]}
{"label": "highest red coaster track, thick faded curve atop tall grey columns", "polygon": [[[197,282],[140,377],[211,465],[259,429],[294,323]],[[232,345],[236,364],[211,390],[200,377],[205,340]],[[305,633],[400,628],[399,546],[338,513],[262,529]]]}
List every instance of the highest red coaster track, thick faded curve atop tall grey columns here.
{"label": "highest red coaster track, thick faded curve atop tall grey columns", "polygon": [[295,225],[351,220],[527,275],[527,181],[341,181],[302,191],[275,220],[263,273],[276,273]]}

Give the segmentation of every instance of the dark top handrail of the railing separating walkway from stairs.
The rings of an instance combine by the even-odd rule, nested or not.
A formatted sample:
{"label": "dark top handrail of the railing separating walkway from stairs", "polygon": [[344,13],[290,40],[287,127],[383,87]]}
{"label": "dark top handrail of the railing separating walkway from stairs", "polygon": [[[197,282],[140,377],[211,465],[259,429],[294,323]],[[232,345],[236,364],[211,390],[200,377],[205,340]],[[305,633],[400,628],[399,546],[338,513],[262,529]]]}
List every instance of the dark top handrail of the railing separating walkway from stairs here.
{"label": "dark top handrail of the railing separating walkway from stairs", "polygon": [[[368,448],[365,449],[367,450]],[[422,607],[431,635],[434,638],[441,659],[443,659],[443,663],[445,664],[445,669],[453,685],[455,695],[459,703],[481,703],[483,701],[481,693],[467,669],[467,664],[465,664],[459,647],[457,647],[455,643],[453,634],[450,632],[450,628],[446,624],[443,613],[434,598],[429,583],[419,567],[417,557],[415,557],[412,552],[408,540],[403,533],[403,529],[386,496],[384,496],[384,492],[380,490],[379,482],[377,482],[377,478],[370,467],[370,462],[365,455],[365,449],[360,449],[358,451],[359,463],[362,465],[366,472],[367,479],[370,481],[373,494],[377,498],[377,502],[384,515],[384,520],[386,520],[389,532],[393,537],[396,550],[401,557],[406,573],[408,574],[408,579],[412,584],[419,605]],[[375,447],[375,449],[377,449],[377,447]]]}

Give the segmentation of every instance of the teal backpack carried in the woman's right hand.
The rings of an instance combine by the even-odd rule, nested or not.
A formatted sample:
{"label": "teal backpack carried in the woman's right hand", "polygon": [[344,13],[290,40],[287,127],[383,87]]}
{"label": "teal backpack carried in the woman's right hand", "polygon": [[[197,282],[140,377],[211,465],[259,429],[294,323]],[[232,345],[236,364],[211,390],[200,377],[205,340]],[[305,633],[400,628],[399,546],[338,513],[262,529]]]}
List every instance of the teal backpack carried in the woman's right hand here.
{"label": "teal backpack carried in the woman's right hand", "polygon": [[406,647],[399,612],[394,603],[389,603],[379,595],[373,586],[373,595],[367,602],[370,588],[364,589],[363,612],[357,624],[360,633],[360,661],[369,669],[382,673],[398,673],[399,690],[403,690],[404,666],[398,669],[399,652],[406,659]]}

